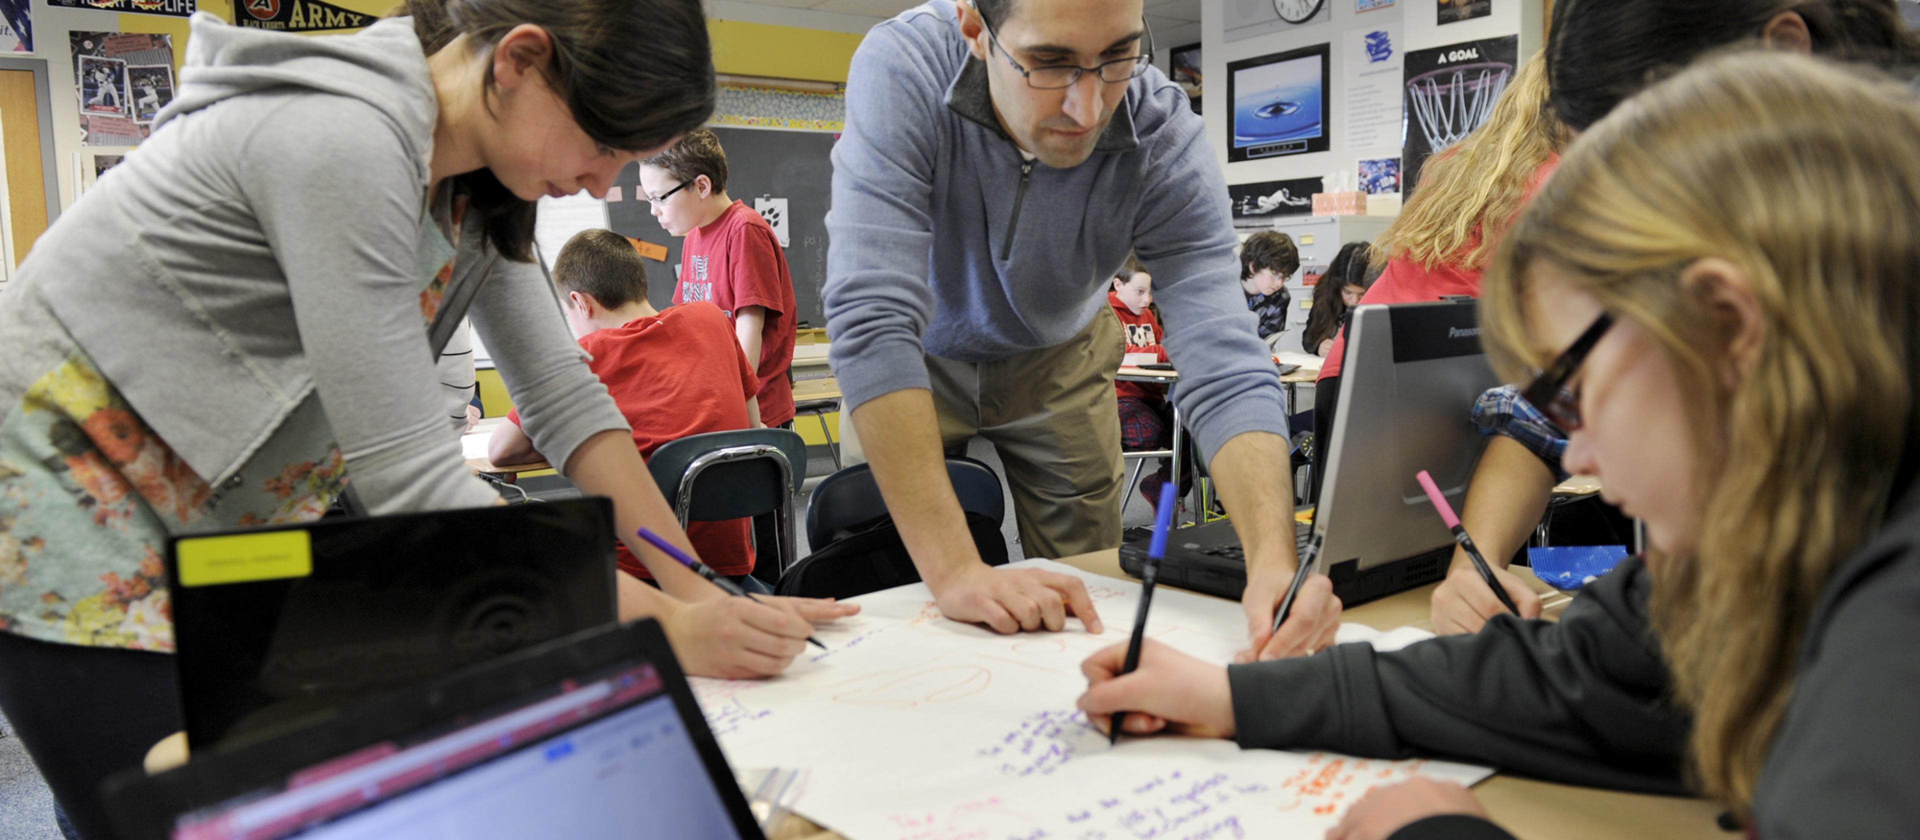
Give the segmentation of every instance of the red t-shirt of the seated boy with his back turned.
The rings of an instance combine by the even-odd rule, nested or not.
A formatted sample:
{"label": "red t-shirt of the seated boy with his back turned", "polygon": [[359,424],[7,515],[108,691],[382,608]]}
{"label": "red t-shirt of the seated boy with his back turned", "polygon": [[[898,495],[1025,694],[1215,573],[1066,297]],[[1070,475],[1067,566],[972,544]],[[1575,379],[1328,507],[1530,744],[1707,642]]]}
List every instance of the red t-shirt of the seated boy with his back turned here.
{"label": "red t-shirt of the seated boy with his back turned", "polygon": [[[747,366],[732,322],[710,303],[588,334],[580,347],[593,355],[588,366],[634,428],[641,458],[687,435],[747,428],[747,397],[756,393],[760,380]],[[513,410],[507,420],[518,426],[520,412]],[[753,520],[693,522],[687,539],[714,572],[745,575],[753,572],[751,529]],[[653,577],[626,543],[618,545],[618,554],[622,572]]]}

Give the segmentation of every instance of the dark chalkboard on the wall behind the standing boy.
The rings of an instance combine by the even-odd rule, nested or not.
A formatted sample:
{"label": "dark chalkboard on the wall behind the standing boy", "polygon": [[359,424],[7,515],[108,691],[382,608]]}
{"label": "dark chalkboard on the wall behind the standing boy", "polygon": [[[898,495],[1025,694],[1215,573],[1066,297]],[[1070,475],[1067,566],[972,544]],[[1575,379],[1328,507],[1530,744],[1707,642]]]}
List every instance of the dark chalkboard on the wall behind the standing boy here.
{"label": "dark chalkboard on the wall behind the standing boy", "polygon": [[[728,196],[755,207],[756,199],[785,199],[787,272],[793,274],[793,301],[803,326],[826,326],[820,286],[828,280],[828,205],[833,198],[833,140],[839,134],[776,128],[714,128],[726,150]],[[624,201],[607,205],[612,230],[636,240],[666,245],[666,261],[647,263],[647,299],[655,307],[674,301],[674,268],[680,267],[680,238],[668,236],[647,207],[639,188],[639,165],[620,173]],[[772,209],[762,215],[776,215]],[[778,230],[776,219],[768,219]]]}

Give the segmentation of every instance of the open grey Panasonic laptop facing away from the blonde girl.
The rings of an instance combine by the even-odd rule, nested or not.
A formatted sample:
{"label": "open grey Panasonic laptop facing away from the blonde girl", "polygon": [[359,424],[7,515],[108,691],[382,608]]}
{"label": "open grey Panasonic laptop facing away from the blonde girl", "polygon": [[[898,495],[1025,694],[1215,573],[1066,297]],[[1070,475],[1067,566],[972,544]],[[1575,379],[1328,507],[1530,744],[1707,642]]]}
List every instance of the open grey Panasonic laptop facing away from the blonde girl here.
{"label": "open grey Panasonic laptop facing away from the blonde girl", "polygon": [[[1342,374],[1313,527],[1325,531],[1319,572],[1354,606],[1446,575],[1453,537],[1413,476],[1428,470],[1461,506],[1486,447],[1473,403],[1500,380],[1480,349],[1475,301],[1354,309]],[[1298,525],[1296,548],[1308,535]],[[1125,533],[1127,573],[1139,577],[1150,537]],[[1160,581],[1238,600],[1246,554],[1233,524],[1173,531]]]}

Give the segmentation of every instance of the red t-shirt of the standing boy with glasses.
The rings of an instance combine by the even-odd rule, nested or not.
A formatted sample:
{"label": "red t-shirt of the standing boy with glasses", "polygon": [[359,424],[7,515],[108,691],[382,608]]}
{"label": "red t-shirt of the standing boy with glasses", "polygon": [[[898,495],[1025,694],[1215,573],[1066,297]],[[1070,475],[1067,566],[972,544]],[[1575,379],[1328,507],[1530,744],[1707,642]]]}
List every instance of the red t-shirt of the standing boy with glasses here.
{"label": "red t-shirt of the standing boy with glasses", "polygon": [[780,426],[793,420],[795,303],[793,276],[780,236],[753,207],[733,201],[705,228],[687,230],[680,245],[680,284],[674,305],[707,301],[728,320],[741,307],[766,307],[760,326],[760,422]]}

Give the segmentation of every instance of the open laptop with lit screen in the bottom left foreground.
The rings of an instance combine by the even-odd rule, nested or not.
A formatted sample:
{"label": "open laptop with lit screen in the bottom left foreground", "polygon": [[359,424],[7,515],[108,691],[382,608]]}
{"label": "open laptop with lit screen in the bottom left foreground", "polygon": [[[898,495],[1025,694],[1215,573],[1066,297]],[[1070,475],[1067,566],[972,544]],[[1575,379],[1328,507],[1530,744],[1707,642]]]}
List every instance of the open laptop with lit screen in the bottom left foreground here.
{"label": "open laptop with lit screen in the bottom left foreground", "polygon": [[129,771],[106,798],[121,840],[762,838],[655,621]]}

